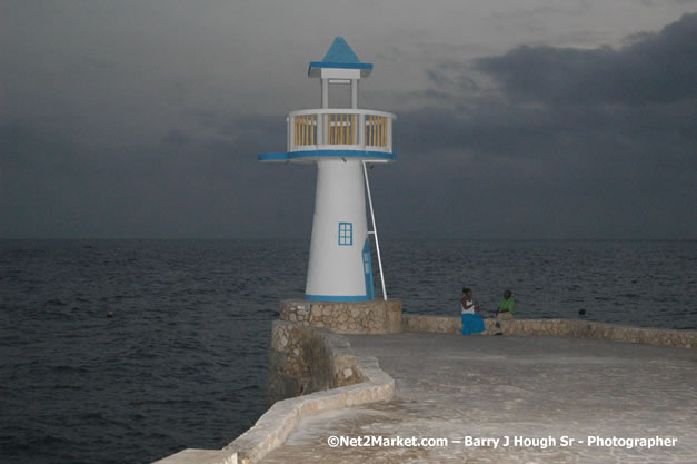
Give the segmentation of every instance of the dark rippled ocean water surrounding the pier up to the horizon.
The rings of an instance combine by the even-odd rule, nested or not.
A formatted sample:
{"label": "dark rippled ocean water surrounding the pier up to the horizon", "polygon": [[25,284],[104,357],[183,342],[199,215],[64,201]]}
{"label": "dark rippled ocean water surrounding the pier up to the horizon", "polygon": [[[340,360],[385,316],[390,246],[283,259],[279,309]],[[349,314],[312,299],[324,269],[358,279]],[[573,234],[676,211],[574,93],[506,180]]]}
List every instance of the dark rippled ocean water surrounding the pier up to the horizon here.
{"label": "dark rippled ocean water surrounding the pier up to the horizon", "polygon": [[[308,243],[0,240],[0,463],[150,463],[221,447],[266,411],[278,302]],[[517,317],[697,328],[697,241],[389,241],[405,313],[462,286]],[[374,250],[375,251],[375,250]],[[376,270],[376,296],[381,295]]]}

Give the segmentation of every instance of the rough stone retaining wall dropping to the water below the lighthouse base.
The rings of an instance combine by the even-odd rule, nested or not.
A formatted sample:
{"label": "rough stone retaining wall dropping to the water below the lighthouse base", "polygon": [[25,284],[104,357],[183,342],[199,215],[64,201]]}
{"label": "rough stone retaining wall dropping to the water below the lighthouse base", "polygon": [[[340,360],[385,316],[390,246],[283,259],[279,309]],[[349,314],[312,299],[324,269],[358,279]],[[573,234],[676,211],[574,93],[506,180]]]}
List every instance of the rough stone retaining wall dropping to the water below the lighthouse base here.
{"label": "rough stone retaining wall dropping to the water below the lighthouse base", "polygon": [[268,361],[269,405],[364,381],[346,338],[300,323],[272,323]]}

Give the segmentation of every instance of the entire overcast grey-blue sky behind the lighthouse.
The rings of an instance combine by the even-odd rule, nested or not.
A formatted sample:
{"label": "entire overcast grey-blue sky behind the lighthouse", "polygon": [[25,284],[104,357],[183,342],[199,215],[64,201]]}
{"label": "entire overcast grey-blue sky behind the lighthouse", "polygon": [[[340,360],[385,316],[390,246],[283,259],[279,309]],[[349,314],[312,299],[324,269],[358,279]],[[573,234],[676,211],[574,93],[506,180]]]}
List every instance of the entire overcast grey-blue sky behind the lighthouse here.
{"label": "entire overcast grey-blue sky behind the lighthouse", "polygon": [[0,0],[0,237],[309,239],[336,36],[390,238],[697,238],[693,0]]}

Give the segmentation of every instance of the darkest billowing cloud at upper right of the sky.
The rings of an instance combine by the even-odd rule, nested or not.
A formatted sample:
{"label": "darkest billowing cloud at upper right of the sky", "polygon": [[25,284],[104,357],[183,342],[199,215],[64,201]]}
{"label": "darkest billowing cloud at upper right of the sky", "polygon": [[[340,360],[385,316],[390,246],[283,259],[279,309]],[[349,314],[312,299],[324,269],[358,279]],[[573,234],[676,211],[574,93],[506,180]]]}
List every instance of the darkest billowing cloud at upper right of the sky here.
{"label": "darkest billowing cloud at upper right of the sky", "polygon": [[646,105],[697,96],[697,14],[614,50],[518,47],[478,60],[512,98],[545,102]]}

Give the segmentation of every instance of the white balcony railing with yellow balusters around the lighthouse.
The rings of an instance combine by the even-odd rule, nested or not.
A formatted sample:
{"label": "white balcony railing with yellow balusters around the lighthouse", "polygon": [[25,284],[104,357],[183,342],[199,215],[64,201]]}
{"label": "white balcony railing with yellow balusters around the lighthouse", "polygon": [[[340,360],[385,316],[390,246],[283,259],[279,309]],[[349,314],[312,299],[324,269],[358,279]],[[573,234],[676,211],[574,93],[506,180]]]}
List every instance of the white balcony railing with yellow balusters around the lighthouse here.
{"label": "white balcony railing with yellow balusters around the lighthouse", "polygon": [[369,109],[306,109],[288,115],[288,151],[392,152],[395,115]]}

